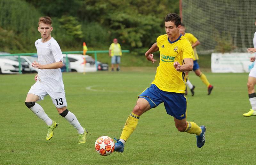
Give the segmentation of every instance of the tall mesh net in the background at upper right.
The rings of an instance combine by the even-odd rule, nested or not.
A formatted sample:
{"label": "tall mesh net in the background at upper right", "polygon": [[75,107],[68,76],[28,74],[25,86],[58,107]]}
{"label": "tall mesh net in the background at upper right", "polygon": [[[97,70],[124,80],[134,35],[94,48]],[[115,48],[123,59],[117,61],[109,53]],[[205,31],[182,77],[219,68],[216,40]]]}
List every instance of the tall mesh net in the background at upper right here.
{"label": "tall mesh net in the background at upper right", "polygon": [[200,54],[245,52],[253,47],[255,20],[255,0],[182,0],[182,22],[200,41]]}

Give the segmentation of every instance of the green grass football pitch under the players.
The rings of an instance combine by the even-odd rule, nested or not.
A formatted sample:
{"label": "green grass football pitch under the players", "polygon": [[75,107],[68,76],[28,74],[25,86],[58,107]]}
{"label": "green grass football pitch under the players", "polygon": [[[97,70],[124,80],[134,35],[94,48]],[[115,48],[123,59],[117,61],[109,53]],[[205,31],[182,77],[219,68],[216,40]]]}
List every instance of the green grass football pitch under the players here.
{"label": "green grass football pitch under the players", "polygon": [[140,117],[124,153],[100,156],[95,140],[106,135],[119,138],[136,103],[150,86],[155,69],[88,74],[64,73],[68,109],[88,130],[86,144],[78,145],[77,131],[61,117],[49,96],[38,102],[59,124],[46,141],[47,126],[24,104],[34,74],[0,75],[0,164],[255,164],[256,116],[250,109],[248,74],[205,73],[214,85],[207,88],[190,73],[195,96],[188,93],[187,120],[206,126],[206,143],[196,147],[196,137],[179,132],[164,104]]}

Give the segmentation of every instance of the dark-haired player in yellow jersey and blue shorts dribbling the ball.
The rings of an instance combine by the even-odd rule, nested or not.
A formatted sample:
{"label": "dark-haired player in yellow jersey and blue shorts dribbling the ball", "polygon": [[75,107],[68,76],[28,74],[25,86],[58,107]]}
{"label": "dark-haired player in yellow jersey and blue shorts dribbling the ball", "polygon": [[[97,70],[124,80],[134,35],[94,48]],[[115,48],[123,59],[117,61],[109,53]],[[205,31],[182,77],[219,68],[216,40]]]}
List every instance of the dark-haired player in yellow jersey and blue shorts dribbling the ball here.
{"label": "dark-haired player in yellow jersey and blue shorts dribbling the ball", "polygon": [[160,35],[145,53],[149,61],[156,61],[155,51],[160,51],[160,62],[151,86],[139,96],[132,113],[127,118],[120,139],[115,143],[115,151],[124,152],[124,144],[136,128],[140,116],[164,102],[167,114],[174,117],[176,128],[181,132],[196,134],[197,147],[205,142],[205,127],[187,122],[187,99],[185,97],[185,72],[193,69],[193,49],[188,39],[180,35],[180,16],[176,13],[165,17],[165,35]]}

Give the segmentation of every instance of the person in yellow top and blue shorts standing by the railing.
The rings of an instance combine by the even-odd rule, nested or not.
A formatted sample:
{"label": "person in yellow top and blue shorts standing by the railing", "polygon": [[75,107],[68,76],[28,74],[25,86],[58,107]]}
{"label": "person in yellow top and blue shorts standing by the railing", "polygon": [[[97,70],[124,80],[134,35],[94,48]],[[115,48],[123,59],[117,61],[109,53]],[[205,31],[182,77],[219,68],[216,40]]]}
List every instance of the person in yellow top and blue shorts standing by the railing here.
{"label": "person in yellow top and blue shorts standing by the railing", "polygon": [[119,64],[121,62],[122,49],[118,40],[113,39],[113,43],[109,46],[109,57],[111,57],[111,71],[114,71],[114,64],[116,64],[116,71],[120,70]]}

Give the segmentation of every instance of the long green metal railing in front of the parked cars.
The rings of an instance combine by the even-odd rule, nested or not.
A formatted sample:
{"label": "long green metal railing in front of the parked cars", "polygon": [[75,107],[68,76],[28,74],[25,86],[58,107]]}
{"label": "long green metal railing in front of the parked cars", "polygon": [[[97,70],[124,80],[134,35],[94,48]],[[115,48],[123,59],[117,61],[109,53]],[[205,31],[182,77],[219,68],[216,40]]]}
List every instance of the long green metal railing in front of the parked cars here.
{"label": "long green metal railing in front of the parked cars", "polygon": [[[129,50],[122,50],[122,53],[129,53]],[[96,70],[98,70],[98,63],[97,63],[97,53],[108,53],[108,51],[86,51],[86,54],[94,54],[94,59],[95,59],[95,65],[96,65]],[[18,56],[18,61],[19,61],[19,73],[21,74],[21,68],[20,68],[20,56],[32,56],[37,53],[14,53],[14,54],[4,54],[0,55],[1,56]],[[66,70],[68,72],[68,54],[83,54],[83,51],[62,51],[62,54],[66,54]]]}

